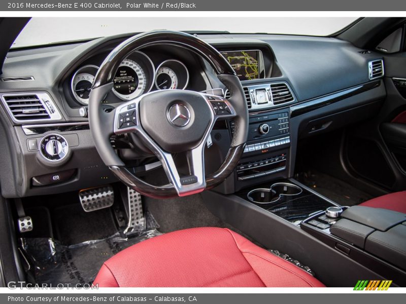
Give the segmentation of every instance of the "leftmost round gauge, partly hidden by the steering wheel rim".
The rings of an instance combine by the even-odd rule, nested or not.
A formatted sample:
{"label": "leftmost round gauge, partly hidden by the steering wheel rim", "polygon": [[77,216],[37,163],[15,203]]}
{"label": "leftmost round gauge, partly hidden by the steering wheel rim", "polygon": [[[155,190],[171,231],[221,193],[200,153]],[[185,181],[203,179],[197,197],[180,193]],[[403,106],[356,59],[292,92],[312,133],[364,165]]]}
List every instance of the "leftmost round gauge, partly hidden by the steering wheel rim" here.
{"label": "leftmost round gauge, partly hidden by the steering wheel rim", "polygon": [[89,103],[89,94],[97,69],[98,67],[95,65],[85,65],[79,68],[72,77],[72,93],[82,104]]}

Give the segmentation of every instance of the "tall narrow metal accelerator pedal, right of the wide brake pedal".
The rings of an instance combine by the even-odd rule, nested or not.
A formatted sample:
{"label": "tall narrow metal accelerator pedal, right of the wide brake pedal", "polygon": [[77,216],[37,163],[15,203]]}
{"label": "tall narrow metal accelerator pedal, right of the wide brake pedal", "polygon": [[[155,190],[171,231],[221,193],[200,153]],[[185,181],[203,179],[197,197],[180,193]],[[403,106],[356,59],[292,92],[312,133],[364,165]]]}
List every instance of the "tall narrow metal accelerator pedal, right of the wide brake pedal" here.
{"label": "tall narrow metal accelerator pedal, right of the wide brake pedal", "polygon": [[124,230],[124,234],[128,235],[138,231],[145,230],[145,217],[143,212],[143,204],[141,194],[127,187],[128,200],[128,223]]}

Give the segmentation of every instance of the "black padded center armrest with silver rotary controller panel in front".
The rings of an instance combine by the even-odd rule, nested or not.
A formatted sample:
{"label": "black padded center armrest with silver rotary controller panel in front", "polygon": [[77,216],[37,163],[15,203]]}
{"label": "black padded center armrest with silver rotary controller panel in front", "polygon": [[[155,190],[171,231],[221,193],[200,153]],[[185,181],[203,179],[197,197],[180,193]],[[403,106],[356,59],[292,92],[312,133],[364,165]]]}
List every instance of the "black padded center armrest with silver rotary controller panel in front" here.
{"label": "black padded center armrest with silver rotary controller panel in front", "polygon": [[327,209],[300,223],[301,229],[368,265],[397,284],[405,283],[406,214],[364,206]]}

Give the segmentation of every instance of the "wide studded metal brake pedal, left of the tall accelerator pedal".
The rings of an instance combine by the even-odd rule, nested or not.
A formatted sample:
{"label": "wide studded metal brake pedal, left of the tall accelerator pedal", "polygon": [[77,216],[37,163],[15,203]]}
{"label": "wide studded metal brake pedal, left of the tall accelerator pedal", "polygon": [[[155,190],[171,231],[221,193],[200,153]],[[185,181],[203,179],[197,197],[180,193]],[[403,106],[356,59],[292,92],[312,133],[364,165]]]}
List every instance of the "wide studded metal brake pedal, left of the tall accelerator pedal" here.
{"label": "wide studded metal brake pedal, left of the tall accelerator pedal", "polygon": [[79,191],[79,200],[86,212],[108,208],[114,203],[114,190],[111,185],[83,189]]}

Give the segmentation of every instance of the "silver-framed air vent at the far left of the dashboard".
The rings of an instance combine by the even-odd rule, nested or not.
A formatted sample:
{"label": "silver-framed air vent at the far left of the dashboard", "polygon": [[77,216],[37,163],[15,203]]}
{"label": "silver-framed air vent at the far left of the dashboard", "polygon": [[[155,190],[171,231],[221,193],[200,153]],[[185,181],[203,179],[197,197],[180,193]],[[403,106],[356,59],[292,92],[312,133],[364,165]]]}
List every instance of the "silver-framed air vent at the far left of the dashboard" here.
{"label": "silver-framed air vent at the far left of the dashboard", "polygon": [[51,98],[46,93],[4,94],[2,100],[15,122],[61,119]]}

